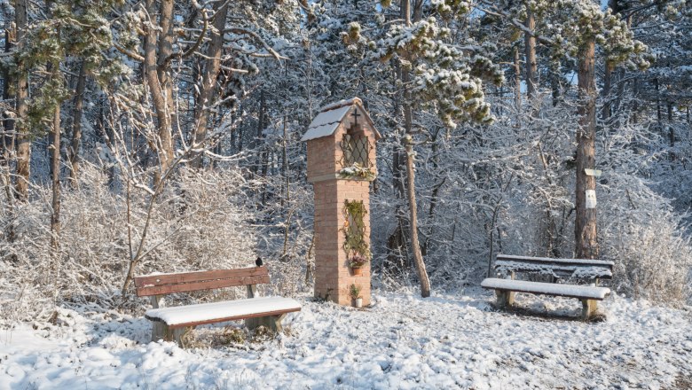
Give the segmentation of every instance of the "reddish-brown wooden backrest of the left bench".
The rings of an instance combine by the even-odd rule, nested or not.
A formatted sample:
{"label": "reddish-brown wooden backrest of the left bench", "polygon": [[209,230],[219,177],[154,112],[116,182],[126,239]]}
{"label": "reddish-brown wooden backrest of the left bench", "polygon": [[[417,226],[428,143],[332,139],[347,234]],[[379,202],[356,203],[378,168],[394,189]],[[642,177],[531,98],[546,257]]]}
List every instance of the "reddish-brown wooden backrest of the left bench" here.
{"label": "reddish-brown wooden backrest of the left bench", "polygon": [[156,274],[135,277],[135,288],[137,289],[138,297],[267,283],[269,283],[269,270],[266,267],[213,269],[180,274]]}

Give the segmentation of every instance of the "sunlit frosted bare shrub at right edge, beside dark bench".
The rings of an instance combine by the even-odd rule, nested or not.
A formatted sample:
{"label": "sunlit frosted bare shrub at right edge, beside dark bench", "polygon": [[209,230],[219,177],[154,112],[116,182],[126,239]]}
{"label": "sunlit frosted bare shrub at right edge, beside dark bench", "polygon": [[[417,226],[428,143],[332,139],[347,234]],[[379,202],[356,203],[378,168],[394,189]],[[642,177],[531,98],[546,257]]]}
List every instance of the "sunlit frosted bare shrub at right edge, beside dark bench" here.
{"label": "sunlit frosted bare shrub at right edge, beside dark bench", "polygon": [[657,302],[684,304],[692,293],[692,246],[684,214],[633,175],[610,175],[603,209],[602,255],[616,262],[617,290]]}

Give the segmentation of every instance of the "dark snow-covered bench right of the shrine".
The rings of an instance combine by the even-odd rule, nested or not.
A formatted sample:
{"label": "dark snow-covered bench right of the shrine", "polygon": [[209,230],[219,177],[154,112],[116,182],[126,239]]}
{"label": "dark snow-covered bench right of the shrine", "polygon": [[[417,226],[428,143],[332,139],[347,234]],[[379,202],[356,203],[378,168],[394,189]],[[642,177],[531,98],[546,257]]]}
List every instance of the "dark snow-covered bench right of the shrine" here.
{"label": "dark snow-covered bench right of the shrine", "polygon": [[[610,293],[607,287],[598,287],[600,279],[613,277],[613,262],[587,259],[549,259],[546,257],[498,254],[495,270],[499,276],[510,278],[486,278],[481,286],[495,290],[497,306],[509,308],[515,303],[516,292],[577,298],[582,302],[582,318],[594,317],[598,300]],[[516,273],[547,275],[554,282],[560,280],[590,280],[593,285],[568,285],[557,283],[515,280]]]}

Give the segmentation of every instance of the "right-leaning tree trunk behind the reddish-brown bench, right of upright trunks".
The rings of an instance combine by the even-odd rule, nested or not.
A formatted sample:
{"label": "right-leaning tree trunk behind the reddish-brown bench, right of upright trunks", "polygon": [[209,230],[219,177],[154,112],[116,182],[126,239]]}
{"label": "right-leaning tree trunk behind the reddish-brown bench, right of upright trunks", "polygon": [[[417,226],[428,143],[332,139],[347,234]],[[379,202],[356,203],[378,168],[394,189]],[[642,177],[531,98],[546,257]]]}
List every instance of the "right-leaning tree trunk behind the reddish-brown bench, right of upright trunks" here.
{"label": "right-leaning tree trunk behind the reddish-brown bench, right of upright trunks", "polygon": [[[228,4],[216,2],[214,4],[214,22],[211,30],[211,40],[207,47],[207,60],[202,73],[200,96],[197,98],[197,112],[195,115],[194,144],[200,145],[207,138],[207,124],[209,118],[209,106],[216,97],[216,78],[221,69],[221,55],[224,48],[224,27]],[[198,146],[195,146],[198,147]],[[194,168],[201,168],[201,153],[195,153],[192,161]]]}

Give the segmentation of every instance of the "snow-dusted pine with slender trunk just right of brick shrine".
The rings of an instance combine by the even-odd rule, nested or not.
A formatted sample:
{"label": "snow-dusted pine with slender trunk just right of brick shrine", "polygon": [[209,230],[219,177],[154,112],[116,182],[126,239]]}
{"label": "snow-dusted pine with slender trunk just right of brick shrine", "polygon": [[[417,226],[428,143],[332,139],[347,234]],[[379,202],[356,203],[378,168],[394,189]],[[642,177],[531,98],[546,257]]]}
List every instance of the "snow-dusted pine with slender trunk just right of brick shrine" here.
{"label": "snow-dusted pine with slender trunk just right of brick shrine", "polygon": [[362,37],[359,24],[352,23],[346,43],[366,45],[373,49],[373,58],[382,62],[396,59],[400,68],[409,237],[421,295],[429,297],[429,277],[418,239],[413,137],[420,134],[421,129],[414,128],[414,105],[432,109],[451,129],[465,121],[491,123],[493,118],[490,105],[484,101],[482,77],[502,82],[503,75],[499,66],[494,66],[487,56],[489,47],[474,43],[449,44],[447,38],[451,29],[442,27],[432,16],[424,18],[428,11],[448,15],[451,20],[461,19],[470,11],[467,3],[440,2],[435,9],[424,10],[423,2],[417,2],[412,9],[409,0],[403,0],[399,10],[402,22],[390,23],[377,41],[375,37],[369,40]]}

